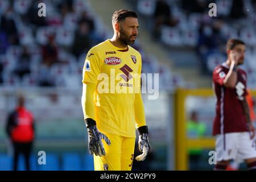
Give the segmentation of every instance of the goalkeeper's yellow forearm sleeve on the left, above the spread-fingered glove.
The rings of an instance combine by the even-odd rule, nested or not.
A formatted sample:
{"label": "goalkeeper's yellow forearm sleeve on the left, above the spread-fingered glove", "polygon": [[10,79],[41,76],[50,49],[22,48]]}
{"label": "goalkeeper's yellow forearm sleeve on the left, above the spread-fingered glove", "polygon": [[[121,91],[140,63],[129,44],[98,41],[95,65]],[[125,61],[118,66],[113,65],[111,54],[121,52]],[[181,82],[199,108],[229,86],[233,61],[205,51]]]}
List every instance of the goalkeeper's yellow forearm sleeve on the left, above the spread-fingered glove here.
{"label": "goalkeeper's yellow forearm sleeve on the left, above the spread-fingered glove", "polygon": [[93,94],[96,89],[96,84],[87,82],[86,84],[82,84],[82,111],[84,113],[84,119],[92,118],[95,119],[95,109],[94,109],[94,101]]}

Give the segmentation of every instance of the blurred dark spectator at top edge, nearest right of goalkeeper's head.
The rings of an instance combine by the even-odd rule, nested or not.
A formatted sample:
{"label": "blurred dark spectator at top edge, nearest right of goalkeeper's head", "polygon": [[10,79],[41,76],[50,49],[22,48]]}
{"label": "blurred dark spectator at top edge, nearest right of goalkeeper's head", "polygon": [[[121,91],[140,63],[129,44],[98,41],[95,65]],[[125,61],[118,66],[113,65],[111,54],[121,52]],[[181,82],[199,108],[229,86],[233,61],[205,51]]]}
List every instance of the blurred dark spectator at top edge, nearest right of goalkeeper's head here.
{"label": "blurred dark spectator at top edge, nearest right of goalkeeper's head", "polygon": [[166,0],[156,1],[154,19],[155,19],[154,36],[156,36],[157,38],[160,35],[160,30],[162,28],[161,27],[162,25],[174,27],[178,23],[178,20],[172,16],[170,6],[166,2]]}

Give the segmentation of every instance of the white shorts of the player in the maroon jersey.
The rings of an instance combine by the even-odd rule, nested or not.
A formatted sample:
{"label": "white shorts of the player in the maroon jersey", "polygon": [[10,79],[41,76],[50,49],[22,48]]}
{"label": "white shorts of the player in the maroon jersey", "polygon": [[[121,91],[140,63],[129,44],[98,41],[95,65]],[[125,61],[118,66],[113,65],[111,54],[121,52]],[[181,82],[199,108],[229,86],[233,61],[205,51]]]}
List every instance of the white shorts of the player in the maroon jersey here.
{"label": "white shorts of the player in the maroon jersey", "polygon": [[219,134],[216,136],[217,162],[233,159],[242,163],[245,159],[256,158],[255,141],[249,132]]}

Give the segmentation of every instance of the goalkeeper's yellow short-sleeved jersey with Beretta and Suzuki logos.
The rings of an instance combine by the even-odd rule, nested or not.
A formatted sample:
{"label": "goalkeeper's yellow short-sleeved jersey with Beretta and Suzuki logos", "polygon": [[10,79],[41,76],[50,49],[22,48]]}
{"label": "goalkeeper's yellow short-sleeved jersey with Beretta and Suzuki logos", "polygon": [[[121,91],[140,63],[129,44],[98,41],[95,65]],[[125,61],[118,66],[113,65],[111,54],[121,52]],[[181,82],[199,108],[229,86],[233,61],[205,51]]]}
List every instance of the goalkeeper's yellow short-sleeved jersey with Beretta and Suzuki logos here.
{"label": "goalkeeper's yellow short-sleeved jersey with Beretta and Suzuki logos", "polygon": [[141,69],[138,51],[130,46],[115,47],[109,39],[91,48],[86,55],[82,82],[97,84],[95,119],[102,133],[136,136],[134,100],[135,93],[141,90]]}

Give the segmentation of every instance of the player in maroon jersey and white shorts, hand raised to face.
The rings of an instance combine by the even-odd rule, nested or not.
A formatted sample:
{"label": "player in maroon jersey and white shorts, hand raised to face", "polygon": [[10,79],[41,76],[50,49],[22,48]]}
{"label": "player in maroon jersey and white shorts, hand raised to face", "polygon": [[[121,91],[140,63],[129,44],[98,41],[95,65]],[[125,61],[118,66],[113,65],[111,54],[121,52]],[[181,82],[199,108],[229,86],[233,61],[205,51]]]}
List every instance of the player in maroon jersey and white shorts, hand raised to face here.
{"label": "player in maroon jersey and white shorts, hand raised to face", "polygon": [[239,65],[245,58],[245,43],[229,39],[228,59],[213,71],[213,90],[217,97],[213,135],[216,136],[217,164],[225,170],[230,160],[244,160],[248,169],[256,169],[255,129],[245,99],[246,72]]}

